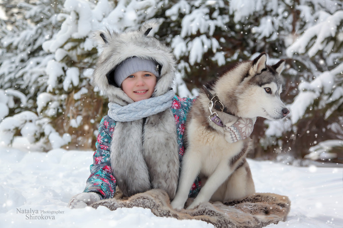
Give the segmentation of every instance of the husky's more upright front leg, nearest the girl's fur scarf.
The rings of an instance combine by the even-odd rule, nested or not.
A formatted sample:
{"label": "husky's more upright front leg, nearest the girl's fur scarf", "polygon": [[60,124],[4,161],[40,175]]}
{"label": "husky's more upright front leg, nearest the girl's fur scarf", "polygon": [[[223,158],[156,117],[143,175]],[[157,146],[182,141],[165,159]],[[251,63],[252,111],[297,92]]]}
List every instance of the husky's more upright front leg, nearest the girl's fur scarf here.
{"label": "husky's more upright front leg, nearest the girl's fur scarf", "polygon": [[[192,156],[195,155],[195,156]],[[189,190],[195,178],[199,174],[201,167],[201,160],[196,153],[191,150],[185,151],[182,159],[181,174],[179,185],[176,191],[174,200],[170,203],[174,209],[181,210],[184,208],[185,202],[188,198]]]}

